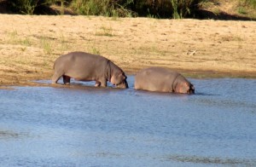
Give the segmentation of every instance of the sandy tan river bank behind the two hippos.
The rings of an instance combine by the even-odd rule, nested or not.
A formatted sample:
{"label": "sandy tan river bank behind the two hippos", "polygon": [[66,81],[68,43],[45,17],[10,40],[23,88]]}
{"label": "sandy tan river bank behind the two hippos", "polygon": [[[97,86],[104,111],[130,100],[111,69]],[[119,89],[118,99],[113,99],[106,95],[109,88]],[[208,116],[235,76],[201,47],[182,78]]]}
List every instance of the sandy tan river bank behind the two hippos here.
{"label": "sandy tan river bank behind the two hippos", "polygon": [[186,76],[256,78],[256,22],[0,14],[0,84],[50,79],[71,51],[125,72],[166,66]]}

